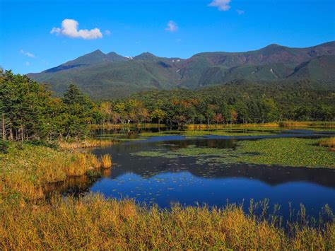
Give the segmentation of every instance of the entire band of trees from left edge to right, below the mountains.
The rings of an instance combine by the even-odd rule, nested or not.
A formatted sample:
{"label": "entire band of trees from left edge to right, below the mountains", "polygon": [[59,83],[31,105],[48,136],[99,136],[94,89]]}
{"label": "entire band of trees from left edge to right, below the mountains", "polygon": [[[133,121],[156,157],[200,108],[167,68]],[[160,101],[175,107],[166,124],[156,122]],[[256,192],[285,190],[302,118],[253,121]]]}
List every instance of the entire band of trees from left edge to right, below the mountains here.
{"label": "entire band of trees from left edge to right, below the mountains", "polygon": [[235,124],[335,118],[334,92],[295,86],[227,85],[149,91],[93,102],[74,85],[62,98],[28,76],[0,70],[0,133],[6,140],[80,139],[90,124]]}

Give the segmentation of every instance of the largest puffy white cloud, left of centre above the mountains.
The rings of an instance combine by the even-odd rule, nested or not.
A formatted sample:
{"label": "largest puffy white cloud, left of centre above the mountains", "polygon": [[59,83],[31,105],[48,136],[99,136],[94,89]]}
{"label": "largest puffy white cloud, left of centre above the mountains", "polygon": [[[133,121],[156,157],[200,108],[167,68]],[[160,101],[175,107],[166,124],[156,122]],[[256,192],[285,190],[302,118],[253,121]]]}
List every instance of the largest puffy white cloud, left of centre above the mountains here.
{"label": "largest puffy white cloud, left of centre above the mountains", "polygon": [[74,19],[64,19],[61,22],[61,28],[52,28],[51,34],[64,35],[66,37],[83,38],[86,40],[97,39],[102,37],[98,28],[92,30],[78,30],[79,23]]}

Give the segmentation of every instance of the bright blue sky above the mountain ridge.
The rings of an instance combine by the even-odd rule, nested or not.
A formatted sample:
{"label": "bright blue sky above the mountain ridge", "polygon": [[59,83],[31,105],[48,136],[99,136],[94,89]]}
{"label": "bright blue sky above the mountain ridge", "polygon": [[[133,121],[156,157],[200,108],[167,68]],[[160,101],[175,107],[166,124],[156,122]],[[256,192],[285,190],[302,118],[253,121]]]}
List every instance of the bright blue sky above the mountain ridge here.
{"label": "bright blue sky above the mountain ridge", "polygon": [[0,4],[0,66],[20,74],[49,69],[95,49],[187,58],[198,52],[241,52],[272,43],[308,47],[335,40],[334,0]]}

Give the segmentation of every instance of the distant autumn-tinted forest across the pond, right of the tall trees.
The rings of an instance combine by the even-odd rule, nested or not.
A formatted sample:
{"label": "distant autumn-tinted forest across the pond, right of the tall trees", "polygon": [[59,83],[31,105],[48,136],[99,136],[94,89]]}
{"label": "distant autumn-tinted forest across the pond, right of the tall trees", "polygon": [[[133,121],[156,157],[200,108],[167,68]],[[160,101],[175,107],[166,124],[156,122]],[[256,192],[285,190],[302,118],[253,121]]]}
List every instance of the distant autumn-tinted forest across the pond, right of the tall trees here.
{"label": "distant autumn-tinted forest across the pond, right of the tall trees", "polygon": [[311,88],[308,81],[149,91],[102,102],[100,110],[106,124],[242,124],[335,118],[334,91]]}

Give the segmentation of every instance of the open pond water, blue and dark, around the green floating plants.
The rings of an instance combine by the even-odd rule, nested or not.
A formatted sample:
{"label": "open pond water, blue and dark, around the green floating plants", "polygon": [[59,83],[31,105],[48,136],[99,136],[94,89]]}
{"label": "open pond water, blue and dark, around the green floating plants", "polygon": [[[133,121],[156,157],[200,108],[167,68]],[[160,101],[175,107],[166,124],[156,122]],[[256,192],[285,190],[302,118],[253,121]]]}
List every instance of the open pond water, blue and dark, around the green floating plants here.
{"label": "open pond water, blue and dark, around the green floating plants", "polygon": [[[208,156],[199,159],[177,153],[198,148],[234,151],[239,141],[278,137],[312,139],[327,134],[295,130],[271,136],[176,135],[124,141],[93,150],[97,156],[109,153],[113,168],[91,182],[86,191],[118,199],[133,198],[141,204],[158,204],[162,208],[173,203],[224,206],[227,202],[243,202],[247,209],[250,199],[256,202],[269,199],[270,210],[280,204],[285,218],[290,210],[298,211],[300,204],[305,206],[308,215],[317,216],[325,204],[335,209],[334,169],[244,163],[212,165],[206,161]],[[171,152],[176,154],[163,154]]]}

